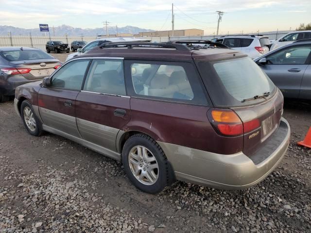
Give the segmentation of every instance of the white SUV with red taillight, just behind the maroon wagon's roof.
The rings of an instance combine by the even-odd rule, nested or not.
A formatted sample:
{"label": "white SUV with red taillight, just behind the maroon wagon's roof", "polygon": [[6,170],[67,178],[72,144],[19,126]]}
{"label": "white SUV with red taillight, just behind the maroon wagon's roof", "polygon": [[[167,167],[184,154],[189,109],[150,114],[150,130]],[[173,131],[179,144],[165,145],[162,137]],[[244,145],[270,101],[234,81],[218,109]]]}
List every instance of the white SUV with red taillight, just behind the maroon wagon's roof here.
{"label": "white SUV with red taillight, just behind the maroon wagon's roof", "polygon": [[227,35],[217,38],[216,42],[225,44],[231,49],[242,51],[255,59],[269,52],[270,41],[262,35]]}

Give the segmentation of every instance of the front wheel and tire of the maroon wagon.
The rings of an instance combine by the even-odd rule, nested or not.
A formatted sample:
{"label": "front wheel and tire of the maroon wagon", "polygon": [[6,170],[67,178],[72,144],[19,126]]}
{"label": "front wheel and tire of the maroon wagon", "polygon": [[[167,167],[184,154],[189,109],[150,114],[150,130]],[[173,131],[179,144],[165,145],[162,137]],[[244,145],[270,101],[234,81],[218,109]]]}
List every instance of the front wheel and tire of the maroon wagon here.
{"label": "front wheel and tire of the maroon wagon", "polygon": [[[30,110],[30,112],[28,112],[28,110]],[[28,112],[28,115],[27,115],[27,112]],[[31,114],[33,114],[33,115],[31,115]],[[22,121],[23,121],[28,133],[30,133],[31,135],[34,135],[34,136],[40,136],[41,135],[41,133],[43,131],[42,130],[42,124],[41,124],[40,120],[38,119],[38,117],[35,115],[34,108],[28,100],[24,100],[21,103],[20,116],[22,118]],[[27,117],[28,118],[33,117],[33,119],[31,119],[32,123],[30,123],[29,121],[26,123]],[[35,127],[33,125],[34,121],[35,121]],[[33,127],[34,127],[34,129],[33,129]]]}

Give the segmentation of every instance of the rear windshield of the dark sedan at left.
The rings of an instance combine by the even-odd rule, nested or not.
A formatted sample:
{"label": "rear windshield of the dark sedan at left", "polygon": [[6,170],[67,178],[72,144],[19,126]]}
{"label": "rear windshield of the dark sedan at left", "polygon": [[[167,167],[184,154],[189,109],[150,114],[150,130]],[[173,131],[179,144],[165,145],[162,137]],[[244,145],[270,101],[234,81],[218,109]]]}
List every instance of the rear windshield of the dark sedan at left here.
{"label": "rear windshield of the dark sedan at left", "polygon": [[53,59],[51,55],[41,50],[1,51],[0,55],[9,62],[23,61],[23,60]]}

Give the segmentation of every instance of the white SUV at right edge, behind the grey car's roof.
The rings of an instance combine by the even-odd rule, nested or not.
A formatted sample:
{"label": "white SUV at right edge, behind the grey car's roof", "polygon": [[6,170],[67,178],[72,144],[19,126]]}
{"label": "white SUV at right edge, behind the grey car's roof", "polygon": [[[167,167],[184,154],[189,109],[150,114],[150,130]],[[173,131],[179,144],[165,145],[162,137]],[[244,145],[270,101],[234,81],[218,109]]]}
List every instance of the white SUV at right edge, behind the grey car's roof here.
{"label": "white SUV at right edge, behind the grey car's roof", "polygon": [[311,39],[311,30],[309,31],[296,31],[288,33],[281,38],[277,39],[271,46],[270,50],[275,50],[284,45],[288,45],[297,40]]}

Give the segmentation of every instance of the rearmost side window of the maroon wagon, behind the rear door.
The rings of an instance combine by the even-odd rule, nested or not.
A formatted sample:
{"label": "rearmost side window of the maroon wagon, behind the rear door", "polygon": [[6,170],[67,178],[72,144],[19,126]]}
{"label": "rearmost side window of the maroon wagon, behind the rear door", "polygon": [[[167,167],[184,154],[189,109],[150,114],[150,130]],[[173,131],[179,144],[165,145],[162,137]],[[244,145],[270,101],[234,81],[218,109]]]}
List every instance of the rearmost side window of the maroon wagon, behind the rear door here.
{"label": "rearmost side window of the maroon wagon, behind the rear door", "polygon": [[193,100],[191,85],[181,66],[134,63],[131,75],[138,95]]}

